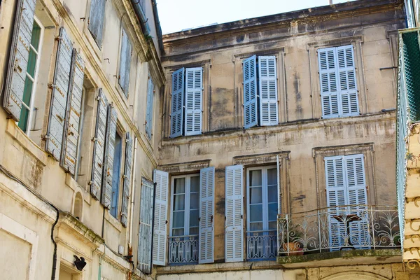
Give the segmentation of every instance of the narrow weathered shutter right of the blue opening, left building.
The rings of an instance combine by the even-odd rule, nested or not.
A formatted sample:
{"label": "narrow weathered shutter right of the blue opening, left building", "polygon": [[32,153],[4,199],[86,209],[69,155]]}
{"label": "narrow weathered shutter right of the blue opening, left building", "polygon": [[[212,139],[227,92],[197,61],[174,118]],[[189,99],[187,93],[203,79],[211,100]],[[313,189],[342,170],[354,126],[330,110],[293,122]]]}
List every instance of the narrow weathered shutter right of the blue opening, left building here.
{"label": "narrow weathered shutter right of the blue opening, left building", "polygon": [[124,164],[124,182],[123,182],[123,205],[121,207],[121,223],[127,226],[128,217],[128,200],[130,197],[130,183],[132,177],[133,153],[132,153],[133,140],[130,132],[125,134],[125,164]]}

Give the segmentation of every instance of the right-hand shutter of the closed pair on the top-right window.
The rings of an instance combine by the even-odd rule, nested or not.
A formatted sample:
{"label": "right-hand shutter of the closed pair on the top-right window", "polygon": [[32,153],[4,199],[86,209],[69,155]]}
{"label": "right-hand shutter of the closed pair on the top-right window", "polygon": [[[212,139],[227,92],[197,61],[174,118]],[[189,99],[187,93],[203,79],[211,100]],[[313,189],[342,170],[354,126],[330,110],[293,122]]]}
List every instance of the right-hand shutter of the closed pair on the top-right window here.
{"label": "right-hand shutter of the closed pair on the top-right window", "polygon": [[342,116],[358,116],[358,93],[353,45],[337,47],[337,65]]}

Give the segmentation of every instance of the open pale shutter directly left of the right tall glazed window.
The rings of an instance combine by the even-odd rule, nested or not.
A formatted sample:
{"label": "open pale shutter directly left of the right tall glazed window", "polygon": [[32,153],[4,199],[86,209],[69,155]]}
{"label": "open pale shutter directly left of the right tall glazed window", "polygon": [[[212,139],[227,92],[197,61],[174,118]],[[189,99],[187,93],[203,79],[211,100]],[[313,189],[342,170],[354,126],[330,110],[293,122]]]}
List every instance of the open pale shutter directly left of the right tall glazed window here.
{"label": "open pale shutter directly left of the right tall glazed window", "polygon": [[225,172],[225,262],[244,260],[243,167],[232,165]]}

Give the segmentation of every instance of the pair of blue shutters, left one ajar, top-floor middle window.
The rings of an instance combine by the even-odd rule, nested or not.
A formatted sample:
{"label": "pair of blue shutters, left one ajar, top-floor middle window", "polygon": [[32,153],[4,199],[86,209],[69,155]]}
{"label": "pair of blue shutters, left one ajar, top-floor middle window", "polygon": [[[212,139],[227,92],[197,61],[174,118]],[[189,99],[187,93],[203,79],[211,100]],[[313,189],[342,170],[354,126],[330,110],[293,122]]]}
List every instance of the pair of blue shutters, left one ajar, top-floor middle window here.
{"label": "pair of blue shutters, left one ajar, top-floor middle window", "polygon": [[278,125],[277,69],[275,56],[244,59],[244,128]]}

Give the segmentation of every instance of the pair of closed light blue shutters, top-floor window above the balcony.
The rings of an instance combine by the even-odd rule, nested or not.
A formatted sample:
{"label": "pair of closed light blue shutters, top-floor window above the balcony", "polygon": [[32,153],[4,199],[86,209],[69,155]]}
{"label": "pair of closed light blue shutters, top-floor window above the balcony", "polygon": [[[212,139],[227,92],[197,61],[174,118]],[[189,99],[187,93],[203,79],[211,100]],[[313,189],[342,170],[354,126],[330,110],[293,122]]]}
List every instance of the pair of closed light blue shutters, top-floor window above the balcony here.
{"label": "pair of closed light blue shutters, top-floor window above the balcony", "polygon": [[323,118],[358,116],[353,45],[318,50]]}

